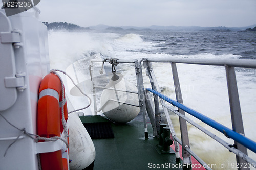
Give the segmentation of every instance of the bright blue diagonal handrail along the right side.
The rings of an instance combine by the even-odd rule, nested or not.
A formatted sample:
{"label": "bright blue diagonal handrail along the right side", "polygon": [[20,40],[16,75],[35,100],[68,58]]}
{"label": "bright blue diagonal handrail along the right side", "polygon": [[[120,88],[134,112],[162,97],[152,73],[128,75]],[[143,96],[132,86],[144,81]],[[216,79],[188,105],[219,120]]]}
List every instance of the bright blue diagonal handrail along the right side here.
{"label": "bright blue diagonal handrail along the right side", "polygon": [[168,98],[167,96],[152,90],[151,88],[147,88],[146,90],[156,94],[159,96],[159,98],[169,102],[170,104],[173,104],[174,106],[184,110],[185,112],[187,112],[188,114],[198,118],[199,120],[201,120],[202,122],[204,122],[205,124],[211,126],[212,128],[220,131],[221,133],[223,133],[225,136],[241,143],[242,145],[244,145],[246,148],[248,148],[249,150],[253,151],[254,153],[256,153],[256,142],[252,141],[251,139],[225,127],[224,125],[216,122],[215,120],[210,119],[209,117],[206,117],[205,115],[190,109],[186,106],[184,106],[183,104],[176,102],[170,98]]}

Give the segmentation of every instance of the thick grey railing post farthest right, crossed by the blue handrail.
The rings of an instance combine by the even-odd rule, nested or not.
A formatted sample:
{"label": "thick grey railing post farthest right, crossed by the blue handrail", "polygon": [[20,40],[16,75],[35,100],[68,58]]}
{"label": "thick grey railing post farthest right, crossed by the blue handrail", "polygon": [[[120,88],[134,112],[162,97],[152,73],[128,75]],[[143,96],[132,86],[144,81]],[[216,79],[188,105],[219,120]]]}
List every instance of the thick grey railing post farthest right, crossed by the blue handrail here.
{"label": "thick grey railing post farthest right, crossed by the blue handrail", "polygon": [[[238,94],[238,86],[236,79],[236,72],[234,71],[234,67],[230,67],[226,65],[226,77],[227,77],[227,87],[228,87],[228,96],[229,96],[229,105],[231,112],[231,120],[232,120],[232,128],[233,131],[244,135],[244,126],[243,119],[239,101]],[[247,149],[242,144],[234,141],[234,144],[237,146],[237,149],[242,151],[247,155]],[[239,163],[240,167],[238,169],[249,169],[248,167],[243,167],[241,164],[246,164],[246,161],[241,157],[236,156],[237,163]]]}

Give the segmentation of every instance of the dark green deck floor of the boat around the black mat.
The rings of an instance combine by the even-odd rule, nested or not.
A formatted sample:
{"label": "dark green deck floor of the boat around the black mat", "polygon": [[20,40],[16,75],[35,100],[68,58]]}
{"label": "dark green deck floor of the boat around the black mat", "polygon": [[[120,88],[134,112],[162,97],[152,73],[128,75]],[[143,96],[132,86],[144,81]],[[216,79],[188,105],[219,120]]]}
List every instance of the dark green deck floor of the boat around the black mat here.
{"label": "dark green deck floor of the boat around the black mat", "polygon": [[[102,116],[81,116],[82,123],[105,122]],[[96,150],[94,169],[182,169],[176,164],[175,154],[159,154],[148,124],[149,139],[144,138],[143,122],[132,120],[126,124],[111,123],[115,138],[93,139]],[[172,150],[172,149],[171,149]],[[176,166],[175,166],[176,165]]]}

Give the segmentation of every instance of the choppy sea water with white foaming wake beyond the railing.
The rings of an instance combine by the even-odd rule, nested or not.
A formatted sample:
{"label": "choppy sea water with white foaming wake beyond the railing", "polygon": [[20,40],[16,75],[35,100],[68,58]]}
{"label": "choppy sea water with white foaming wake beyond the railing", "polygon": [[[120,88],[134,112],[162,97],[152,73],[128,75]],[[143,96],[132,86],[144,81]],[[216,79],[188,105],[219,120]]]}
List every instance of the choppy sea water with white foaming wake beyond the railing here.
{"label": "choppy sea water with white foaming wake beyond the railing", "polygon": [[[200,58],[200,59],[256,59],[256,34],[246,32],[171,32],[171,31],[116,31],[116,32],[49,32],[50,64],[52,69],[67,70],[76,62],[76,69],[89,77],[91,59],[138,58]],[[74,65],[74,64],[73,64]],[[102,63],[95,65],[95,74]],[[232,129],[225,68],[221,66],[177,64],[184,104]],[[119,64],[126,81],[136,85],[134,65]],[[176,99],[169,63],[153,63],[162,92]],[[108,63],[104,70],[111,70]],[[144,70],[143,70],[144,71]],[[144,74],[145,75],[145,74]],[[256,141],[256,70],[236,68],[245,136]],[[143,77],[144,87],[150,87]],[[66,89],[69,90],[69,89]],[[73,97],[72,97],[73,98]],[[100,98],[99,94],[97,98]],[[74,99],[75,100],[75,99]],[[87,103],[83,97],[74,102],[79,108]],[[98,103],[99,105],[99,103]],[[99,106],[100,107],[100,106]],[[178,116],[171,115],[177,136],[180,137]],[[194,121],[217,134],[230,144],[223,134]],[[191,149],[207,164],[236,162],[234,154],[201,131],[188,124]],[[248,155],[256,160],[254,153]],[[214,166],[215,167],[215,166]],[[224,169],[236,169],[225,166]]]}

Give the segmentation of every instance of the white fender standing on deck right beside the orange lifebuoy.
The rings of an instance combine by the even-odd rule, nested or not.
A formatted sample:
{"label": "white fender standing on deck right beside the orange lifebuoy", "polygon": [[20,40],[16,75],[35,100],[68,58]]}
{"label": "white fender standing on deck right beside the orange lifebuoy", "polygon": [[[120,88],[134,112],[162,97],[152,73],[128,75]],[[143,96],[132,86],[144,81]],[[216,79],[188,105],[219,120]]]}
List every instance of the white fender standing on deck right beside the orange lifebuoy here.
{"label": "white fender standing on deck right beside the orange lifebuoy", "polygon": [[95,160],[95,148],[77,113],[70,113],[69,159],[70,169],[84,169]]}

